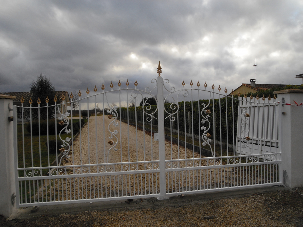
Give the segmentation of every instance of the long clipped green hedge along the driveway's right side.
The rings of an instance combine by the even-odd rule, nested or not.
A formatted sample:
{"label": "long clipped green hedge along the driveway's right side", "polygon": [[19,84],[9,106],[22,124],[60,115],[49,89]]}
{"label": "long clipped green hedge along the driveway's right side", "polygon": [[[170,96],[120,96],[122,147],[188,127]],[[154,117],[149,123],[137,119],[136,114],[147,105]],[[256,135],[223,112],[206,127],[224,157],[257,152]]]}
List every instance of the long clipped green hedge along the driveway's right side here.
{"label": "long clipped green hedge along the driveway's right side", "polygon": [[[214,139],[214,128],[215,128],[215,139],[216,140],[222,140],[222,141],[227,141],[227,135],[228,135],[228,143],[233,143],[233,136],[236,138],[236,132],[237,132],[237,119],[238,119],[238,100],[237,99],[232,99],[232,98],[227,98],[227,114],[226,114],[226,106],[225,106],[225,97],[219,99],[214,99],[214,100],[199,100],[198,101],[193,101],[192,102],[192,109],[191,109],[191,102],[179,102],[179,109],[178,109],[178,114],[174,114],[171,117],[168,117],[168,113],[173,113],[176,112],[176,110],[171,109],[171,104],[164,104],[165,110],[164,112],[164,125],[165,127],[171,127],[171,123],[174,124],[173,127],[177,129],[179,127],[180,131],[185,131],[186,127],[186,132],[192,133],[192,131],[189,130],[188,127],[188,112],[190,112],[191,119],[193,119],[193,132],[196,135],[199,135],[199,131],[201,131],[201,127],[205,126],[206,128],[209,127],[209,124],[205,122],[204,124],[201,123],[201,120],[203,119],[201,116],[201,111],[203,109],[203,105],[209,106],[205,110],[209,110],[210,113],[208,114],[208,120],[210,122],[210,129],[208,130],[208,133],[211,134],[211,139]],[[233,102],[233,106],[232,106]],[[200,104],[200,113],[199,113],[199,106]],[[185,105],[185,107],[184,107]],[[153,113],[155,112],[157,106],[151,106],[151,110],[146,110],[145,106],[145,112],[146,113]],[[176,104],[172,104],[172,107],[176,107]],[[221,109],[221,115],[220,115],[220,109]],[[142,121],[143,120],[143,109],[142,107],[136,107],[137,110],[137,121]],[[234,110],[234,111],[233,111]],[[119,113],[119,111],[117,111]],[[185,112],[185,114],[184,114]],[[214,114],[215,113],[215,114]],[[203,116],[206,116],[207,114],[203,113]],[[128,116],[130,120],[135,120],[135,107],[129,107],[128,108]],[[158,111],[156,111],[153,116],[158,119]],[[199,128],[199,116],[200,116],[200,128]],[[214,120],[215,116],[215,120]],[[227,122],[226,122],[226,116],[227,116]],[[122,119],[127,118],[127,108],[122,107],[121,108],[121,117]],[[147,114],[145,114],[144,119],[146,123],[146,117],[148,117]],[[175,117],[175,120],[173,121],[173,118]],[[184,119],[185,117],[185,119]],[[221,119],[220,119],[221,117]],[[170,119],[171,118],[171,119]],[[172,121],[171,121],[172,120]],[[178,125],[178,123],[179,125]],[[221,122],[221,134],[220,134],[220,122]],[[154,119],[153,124],[157,125],[158,120]],[[227,131],[226,131],[226,126],[228,126]],[[201,131],[202,132],[202,131]],[[221,138],[220,138],[221,136]]]}

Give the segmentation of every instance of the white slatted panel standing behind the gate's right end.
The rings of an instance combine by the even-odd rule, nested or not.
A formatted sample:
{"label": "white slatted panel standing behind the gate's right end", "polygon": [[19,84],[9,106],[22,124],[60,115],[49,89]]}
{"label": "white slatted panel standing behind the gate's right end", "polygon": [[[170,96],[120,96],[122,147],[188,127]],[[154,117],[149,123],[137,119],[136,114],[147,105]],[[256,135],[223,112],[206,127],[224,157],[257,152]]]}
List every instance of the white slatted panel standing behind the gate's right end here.
{"label": "white slatted panel standing behind the gate's right end", "polygon": [[[237,153],[280,153],[278,102],[275,102],[275,98],[270,97],[248,99],[249,101],[247,97],[239,98]],[[250,102],[252,99],[253,102]],[[246,140],[246,138],[248,138],[248,140]],[[269,156],[265,158],[269,158]],[[273,156],[271,156],[271,158],[273,158]]]}

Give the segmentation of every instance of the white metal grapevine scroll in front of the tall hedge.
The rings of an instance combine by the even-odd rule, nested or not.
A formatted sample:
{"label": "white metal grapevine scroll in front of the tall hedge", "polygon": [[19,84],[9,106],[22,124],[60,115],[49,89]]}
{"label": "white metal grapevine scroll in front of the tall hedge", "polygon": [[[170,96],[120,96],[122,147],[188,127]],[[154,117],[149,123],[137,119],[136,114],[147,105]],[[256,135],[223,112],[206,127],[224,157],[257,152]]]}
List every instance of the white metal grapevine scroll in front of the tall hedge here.
{"label": "white metal grapevine scroll in front of the tall hedge", "polygon": [[[203,118],[201,120],[201,123],[203,124],[203,126],[201,127],[201,130],[202,130],[202,140],[203,140],[202,146],[208,145],[209,148],[210,148],[210,150],[211,150],[211,154],[214,157],[215,155],[214,155],[214,152],[213,152],[213,150],[211,148],[211,145],[210,145],[210,143],[211,143],[211,138],[210,138],[211,134],[208,133],[208,130],[210,129],[210,126],[211,126],[211,124],[210,124],[210,122],[208,120],[208,118],[210,117],[209,114],[211,113],[211,111],[208,110],[209,104],[210,104],[210,100],[208,101],[207,105],[205,103],[201,104],[201,106],[203,107],[202,110],[201,110],[201,116]],[[204,124],[205,125],[208,124],[208,126],[205,127]]]}

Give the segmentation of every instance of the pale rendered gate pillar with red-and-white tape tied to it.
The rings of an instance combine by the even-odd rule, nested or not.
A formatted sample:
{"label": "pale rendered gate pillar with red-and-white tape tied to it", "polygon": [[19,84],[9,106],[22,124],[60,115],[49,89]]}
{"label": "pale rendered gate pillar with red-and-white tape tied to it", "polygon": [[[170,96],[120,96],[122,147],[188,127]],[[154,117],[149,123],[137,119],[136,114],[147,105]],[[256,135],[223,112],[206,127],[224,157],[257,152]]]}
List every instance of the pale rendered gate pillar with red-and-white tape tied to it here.
{"label": "pale rendered gate pillar with red-and-white tape tied to it", "polygon": [[[303,186],[303,90],[275,91],[281,111],[281,152],[284,185]],[[298,105],[297,105],[297,104]]]}

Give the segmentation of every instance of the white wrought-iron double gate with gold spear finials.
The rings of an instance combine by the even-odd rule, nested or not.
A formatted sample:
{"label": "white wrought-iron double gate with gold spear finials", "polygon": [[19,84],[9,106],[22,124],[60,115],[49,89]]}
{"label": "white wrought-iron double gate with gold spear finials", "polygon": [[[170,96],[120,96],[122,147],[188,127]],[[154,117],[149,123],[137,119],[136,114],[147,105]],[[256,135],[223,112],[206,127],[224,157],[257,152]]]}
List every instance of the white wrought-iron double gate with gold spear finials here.
{"label": "white wrought-iron double gate with gold spear finials", "polygon": [[178,90],[157,72],[145,90],[119,81],[71,94],[85,115],[95,107],[84,126],[68,103],[14,106],[18,207],[282,184],[277,102],[206,82]]}

